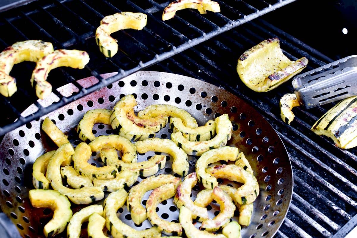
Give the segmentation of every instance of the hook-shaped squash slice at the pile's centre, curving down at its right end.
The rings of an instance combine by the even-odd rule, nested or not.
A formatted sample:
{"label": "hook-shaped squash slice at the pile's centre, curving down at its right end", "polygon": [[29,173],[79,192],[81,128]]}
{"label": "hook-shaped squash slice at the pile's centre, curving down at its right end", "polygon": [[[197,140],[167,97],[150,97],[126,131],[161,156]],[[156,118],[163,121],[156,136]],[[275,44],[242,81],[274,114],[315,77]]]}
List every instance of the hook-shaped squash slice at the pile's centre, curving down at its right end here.
{"label": "hook-shaped squash slice at the pile's centre, curving down at its right end", "polygon": [[188,173],[188,158],[181,148],[178,148],[174,142],[169,139],[150,138],[145,141],[138,141],[135,143],[136,149],[139,153],[147,151],[168,153],[173,157],[172,171],[181,176]]}

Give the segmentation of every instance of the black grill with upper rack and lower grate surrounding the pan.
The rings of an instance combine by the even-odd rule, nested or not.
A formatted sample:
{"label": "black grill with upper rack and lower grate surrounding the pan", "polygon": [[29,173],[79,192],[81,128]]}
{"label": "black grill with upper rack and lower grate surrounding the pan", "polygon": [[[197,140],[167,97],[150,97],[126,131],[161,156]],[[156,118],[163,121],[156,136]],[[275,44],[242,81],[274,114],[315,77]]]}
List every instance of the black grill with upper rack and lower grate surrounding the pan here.
{"label": "black grill with upper rack and lower grate surrounding the pan", "polygon": [[[341,150],[331,140],[310,130],[313,123],[333,105],[311,110],[295,108],[295,120],[287,125],[280,118],[278,104],[281,96],[293,91],[291,84],[285,83],[267,93],[253,92],[239,80],[236,63],[242,52],[271,37],[280,39],[281,48],[290,59],[307,57],[309,64],[306,70],[347,54],[356,54],[347,50],[355,49],[343,45],[335,47],[331,43],[341,44],[345,39],[343,35],[331,35],[327,40],[315,35],[315,31],[320,31],[313,24],[300,24],[308,22],[306,19],[289,20],[292,25],[282,22],[290,19],[291,12],[305,10],[308,4],[318,7],[317,3],[305,0],[217,2],[221,6],[220,13],[200,15],[195,10],[178,11],[174,19],[165,22],[161,21],[161,14],[169,4],[166,0],[33,1],[0,12],[1,49],[15,41],[41,39],[52,42],[55,49],[85,50],[91,58],[84,70],[60,68],[51,72],[48,80],[58,100],[49,106],[36,101],[30,86],[34,63],[15,65],[11,75],[16,77],[18,91],[10,98],[0,96],[3,110],[0,134],[4,135],[102,87],[110,87],[111,83],[144,68],[194,77],[223,87],[248,102],[265,117],[285,144],[292,163],[294,188],[289,212],[275,237],[344,237],[357,225],[357,151]],[[321,9],[328,12],[331,6],[335,5],[328,2]],[[306,9],[307,14],[313,10],[314,7]],[[142,31],[114,33],[119,51],[107,59],[95,44],[94,32],[102,17],[119,11],[144,12],[148,14],[148,23]],[[273,12],[264,15],[270,11]],[[323,15],[323,12],[319,14]],[[313,19],[319,17],[314,16]],[[322,29],[325,27],[327,29],[327,26]],[[303,31],[305,34],[301,33]],[[331,49],[329,44],[333,44]],[[107,72],[118,74],[103,79],[100,74]],[[97,79],[93,86],[84,88],[76,82],[89,76]],[[67,83],[73,83],[77,93],[65,97],[56,90]],[[32,103],[38,108],[37,112],[20,116]]]}

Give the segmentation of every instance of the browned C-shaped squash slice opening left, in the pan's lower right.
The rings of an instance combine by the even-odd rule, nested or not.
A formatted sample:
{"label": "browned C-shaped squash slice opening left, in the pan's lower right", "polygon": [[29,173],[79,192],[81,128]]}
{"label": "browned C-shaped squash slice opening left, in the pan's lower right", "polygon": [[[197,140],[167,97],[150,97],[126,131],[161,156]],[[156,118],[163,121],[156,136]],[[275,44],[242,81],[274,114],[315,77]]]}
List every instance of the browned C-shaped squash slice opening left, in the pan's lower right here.
{"label": "browned C-shaped squash slice opening left, in the pan's lower right", "polygon": [[206,192],[206,191],[207,189],[202,190],[197,194],[198,197],[200,193],[204,192],[204,194],[202,194],[200,198],[201,202],[205,200],[204,203],[198,204],[198,202],[196,203],[195,201],[195,204],[200,205],[202,207],[206,207],[210,202],[215,200],[220,205],[220,210],[221,210],[220,214],[218,214],[213,219],[207,219],[203,221],[201,226],[201,230],[204,229],[208,232],[214,232],[214,231],[218,231],[222,227],[225,227],[230,222],[230,219],[234,215],[236,206],[233,204],[232,198],[228,196],[228,194],[225,191],[223,191],[220,187],[216,186],[215,188],[213,188],[212,192]]}

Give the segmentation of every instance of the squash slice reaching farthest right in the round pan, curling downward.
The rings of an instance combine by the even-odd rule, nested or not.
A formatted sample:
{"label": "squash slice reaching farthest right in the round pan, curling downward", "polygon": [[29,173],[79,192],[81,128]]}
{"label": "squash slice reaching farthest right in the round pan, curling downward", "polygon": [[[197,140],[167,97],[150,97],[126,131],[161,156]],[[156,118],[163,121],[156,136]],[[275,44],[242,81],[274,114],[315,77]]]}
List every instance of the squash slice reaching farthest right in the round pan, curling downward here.
{"label": "squash slice reaching farthest right in the round pan, curling downward", "polygon": [[238,183],[244,183],[234,194],[236,202],[239,204],[248,204],[255,201],[259,194],[259,184],[253,174],[245,171],[235,164],[216,165],[206,169],[207,173],[216,178],[226,178]]}

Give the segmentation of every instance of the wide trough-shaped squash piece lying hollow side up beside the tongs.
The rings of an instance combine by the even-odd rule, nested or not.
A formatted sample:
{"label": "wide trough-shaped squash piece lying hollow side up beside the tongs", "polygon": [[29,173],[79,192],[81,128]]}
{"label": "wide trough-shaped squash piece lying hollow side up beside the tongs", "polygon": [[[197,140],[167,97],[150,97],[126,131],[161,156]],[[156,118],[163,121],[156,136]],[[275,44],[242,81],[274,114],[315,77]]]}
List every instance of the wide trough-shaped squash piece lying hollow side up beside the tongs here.
{"label": "wide trough-shaped squash piece lying hollow side up beside the tongs", "polygon": [[242,82],[256,92],[270,91],[300,73],[307,66],[305,57],[289,60],[278,38],[267,39],[244,52],[237,72]]}

